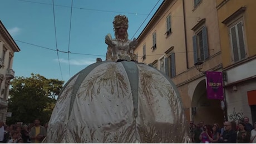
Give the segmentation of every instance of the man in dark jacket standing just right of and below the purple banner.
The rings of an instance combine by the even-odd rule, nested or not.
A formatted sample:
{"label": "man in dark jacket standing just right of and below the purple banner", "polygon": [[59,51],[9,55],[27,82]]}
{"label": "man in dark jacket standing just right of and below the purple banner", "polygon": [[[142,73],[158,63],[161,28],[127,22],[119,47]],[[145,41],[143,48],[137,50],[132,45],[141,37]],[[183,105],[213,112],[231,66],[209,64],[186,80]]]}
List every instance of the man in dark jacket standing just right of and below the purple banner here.
{"label": "man in dark jacket standing just right of and below the purple banner", "polygon": [[231,122],[224,122],[225,131],[219,138],[219,143],[237,143],[237,133],[232,130]]}

